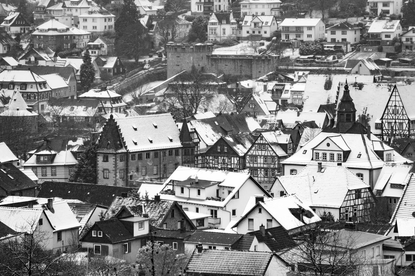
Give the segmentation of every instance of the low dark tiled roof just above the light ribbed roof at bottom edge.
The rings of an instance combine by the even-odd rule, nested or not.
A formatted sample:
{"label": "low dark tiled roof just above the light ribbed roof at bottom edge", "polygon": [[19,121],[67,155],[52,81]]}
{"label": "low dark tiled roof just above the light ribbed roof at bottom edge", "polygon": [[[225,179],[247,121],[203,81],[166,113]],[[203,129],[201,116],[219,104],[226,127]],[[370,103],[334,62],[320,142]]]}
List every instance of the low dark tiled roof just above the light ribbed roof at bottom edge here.
{"label": "low dark tiled roof just above the light ribbed roof at bottom edge", "polygon": [[187,238],[186,242],[231,246],[241,237],[241,234],[195,231]]}

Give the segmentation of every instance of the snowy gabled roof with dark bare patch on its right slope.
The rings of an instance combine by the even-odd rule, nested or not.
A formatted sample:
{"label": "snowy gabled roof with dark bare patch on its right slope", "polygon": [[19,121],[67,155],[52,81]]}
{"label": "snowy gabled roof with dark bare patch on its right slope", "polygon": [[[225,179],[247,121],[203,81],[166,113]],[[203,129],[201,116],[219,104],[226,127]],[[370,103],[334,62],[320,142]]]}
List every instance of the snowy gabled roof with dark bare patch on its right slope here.
{"label": "snowy gabled roof with dark bare patch on its right slope", "polygon": [[[242,218],[235,223],[233,227],[244,220],[244,218],[255,209],[256,206],[262,206],[285,230],[291,230],[305,224],[321,221],[319,216],[313,212],[307,203],[302,202],[296,194],[283,197],[264,198],[264,202],[255,203],[255,197],[250,197],[247,206],[242,212]],[[303,209],[307,215],[304,216],[304,222],[299,221],[290,211],[290,209]]]}

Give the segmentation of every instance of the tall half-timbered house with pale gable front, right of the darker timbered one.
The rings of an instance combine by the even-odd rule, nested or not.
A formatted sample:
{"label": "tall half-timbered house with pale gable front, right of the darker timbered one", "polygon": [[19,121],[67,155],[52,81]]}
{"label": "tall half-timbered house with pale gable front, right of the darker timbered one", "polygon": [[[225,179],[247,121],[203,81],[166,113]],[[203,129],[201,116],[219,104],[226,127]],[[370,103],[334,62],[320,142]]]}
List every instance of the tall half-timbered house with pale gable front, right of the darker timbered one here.
{"label": "tall half-timbered house with pale gable front, right of the darker timbered one", "polygon": [[261,185],[268,189],[277,173],[282,172],[281,161],[293,154],[290,134],[281,130],[262,132],[246,155],[246,168]]}

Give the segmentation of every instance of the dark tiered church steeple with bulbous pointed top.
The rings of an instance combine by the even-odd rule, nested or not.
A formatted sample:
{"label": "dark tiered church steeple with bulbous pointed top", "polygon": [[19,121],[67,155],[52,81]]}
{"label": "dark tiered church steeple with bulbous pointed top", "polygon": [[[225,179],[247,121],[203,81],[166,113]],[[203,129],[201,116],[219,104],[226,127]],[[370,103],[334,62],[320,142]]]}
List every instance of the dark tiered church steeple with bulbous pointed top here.
{"label": "dark tiered church steeple with bulbous pointed top", "polygon": [[349,85],[344,85],[343,97],[337,108],[337,126],[339,131],[346,131],[356,122],[356,108],[354,108],[353,99],[350,96]]}

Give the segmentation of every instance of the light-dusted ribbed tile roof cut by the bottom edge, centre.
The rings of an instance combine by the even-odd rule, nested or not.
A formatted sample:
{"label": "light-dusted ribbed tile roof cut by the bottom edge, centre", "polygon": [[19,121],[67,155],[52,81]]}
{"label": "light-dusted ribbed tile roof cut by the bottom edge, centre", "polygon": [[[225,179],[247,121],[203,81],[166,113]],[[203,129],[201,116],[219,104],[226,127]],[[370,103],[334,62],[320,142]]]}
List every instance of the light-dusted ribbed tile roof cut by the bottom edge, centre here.
{"label": "light-dusted ribbed tile roof cut by the bottom edge, centre", "polygon": [[195,249],[186,266],[188,274],[264,276],[272,252]]}

